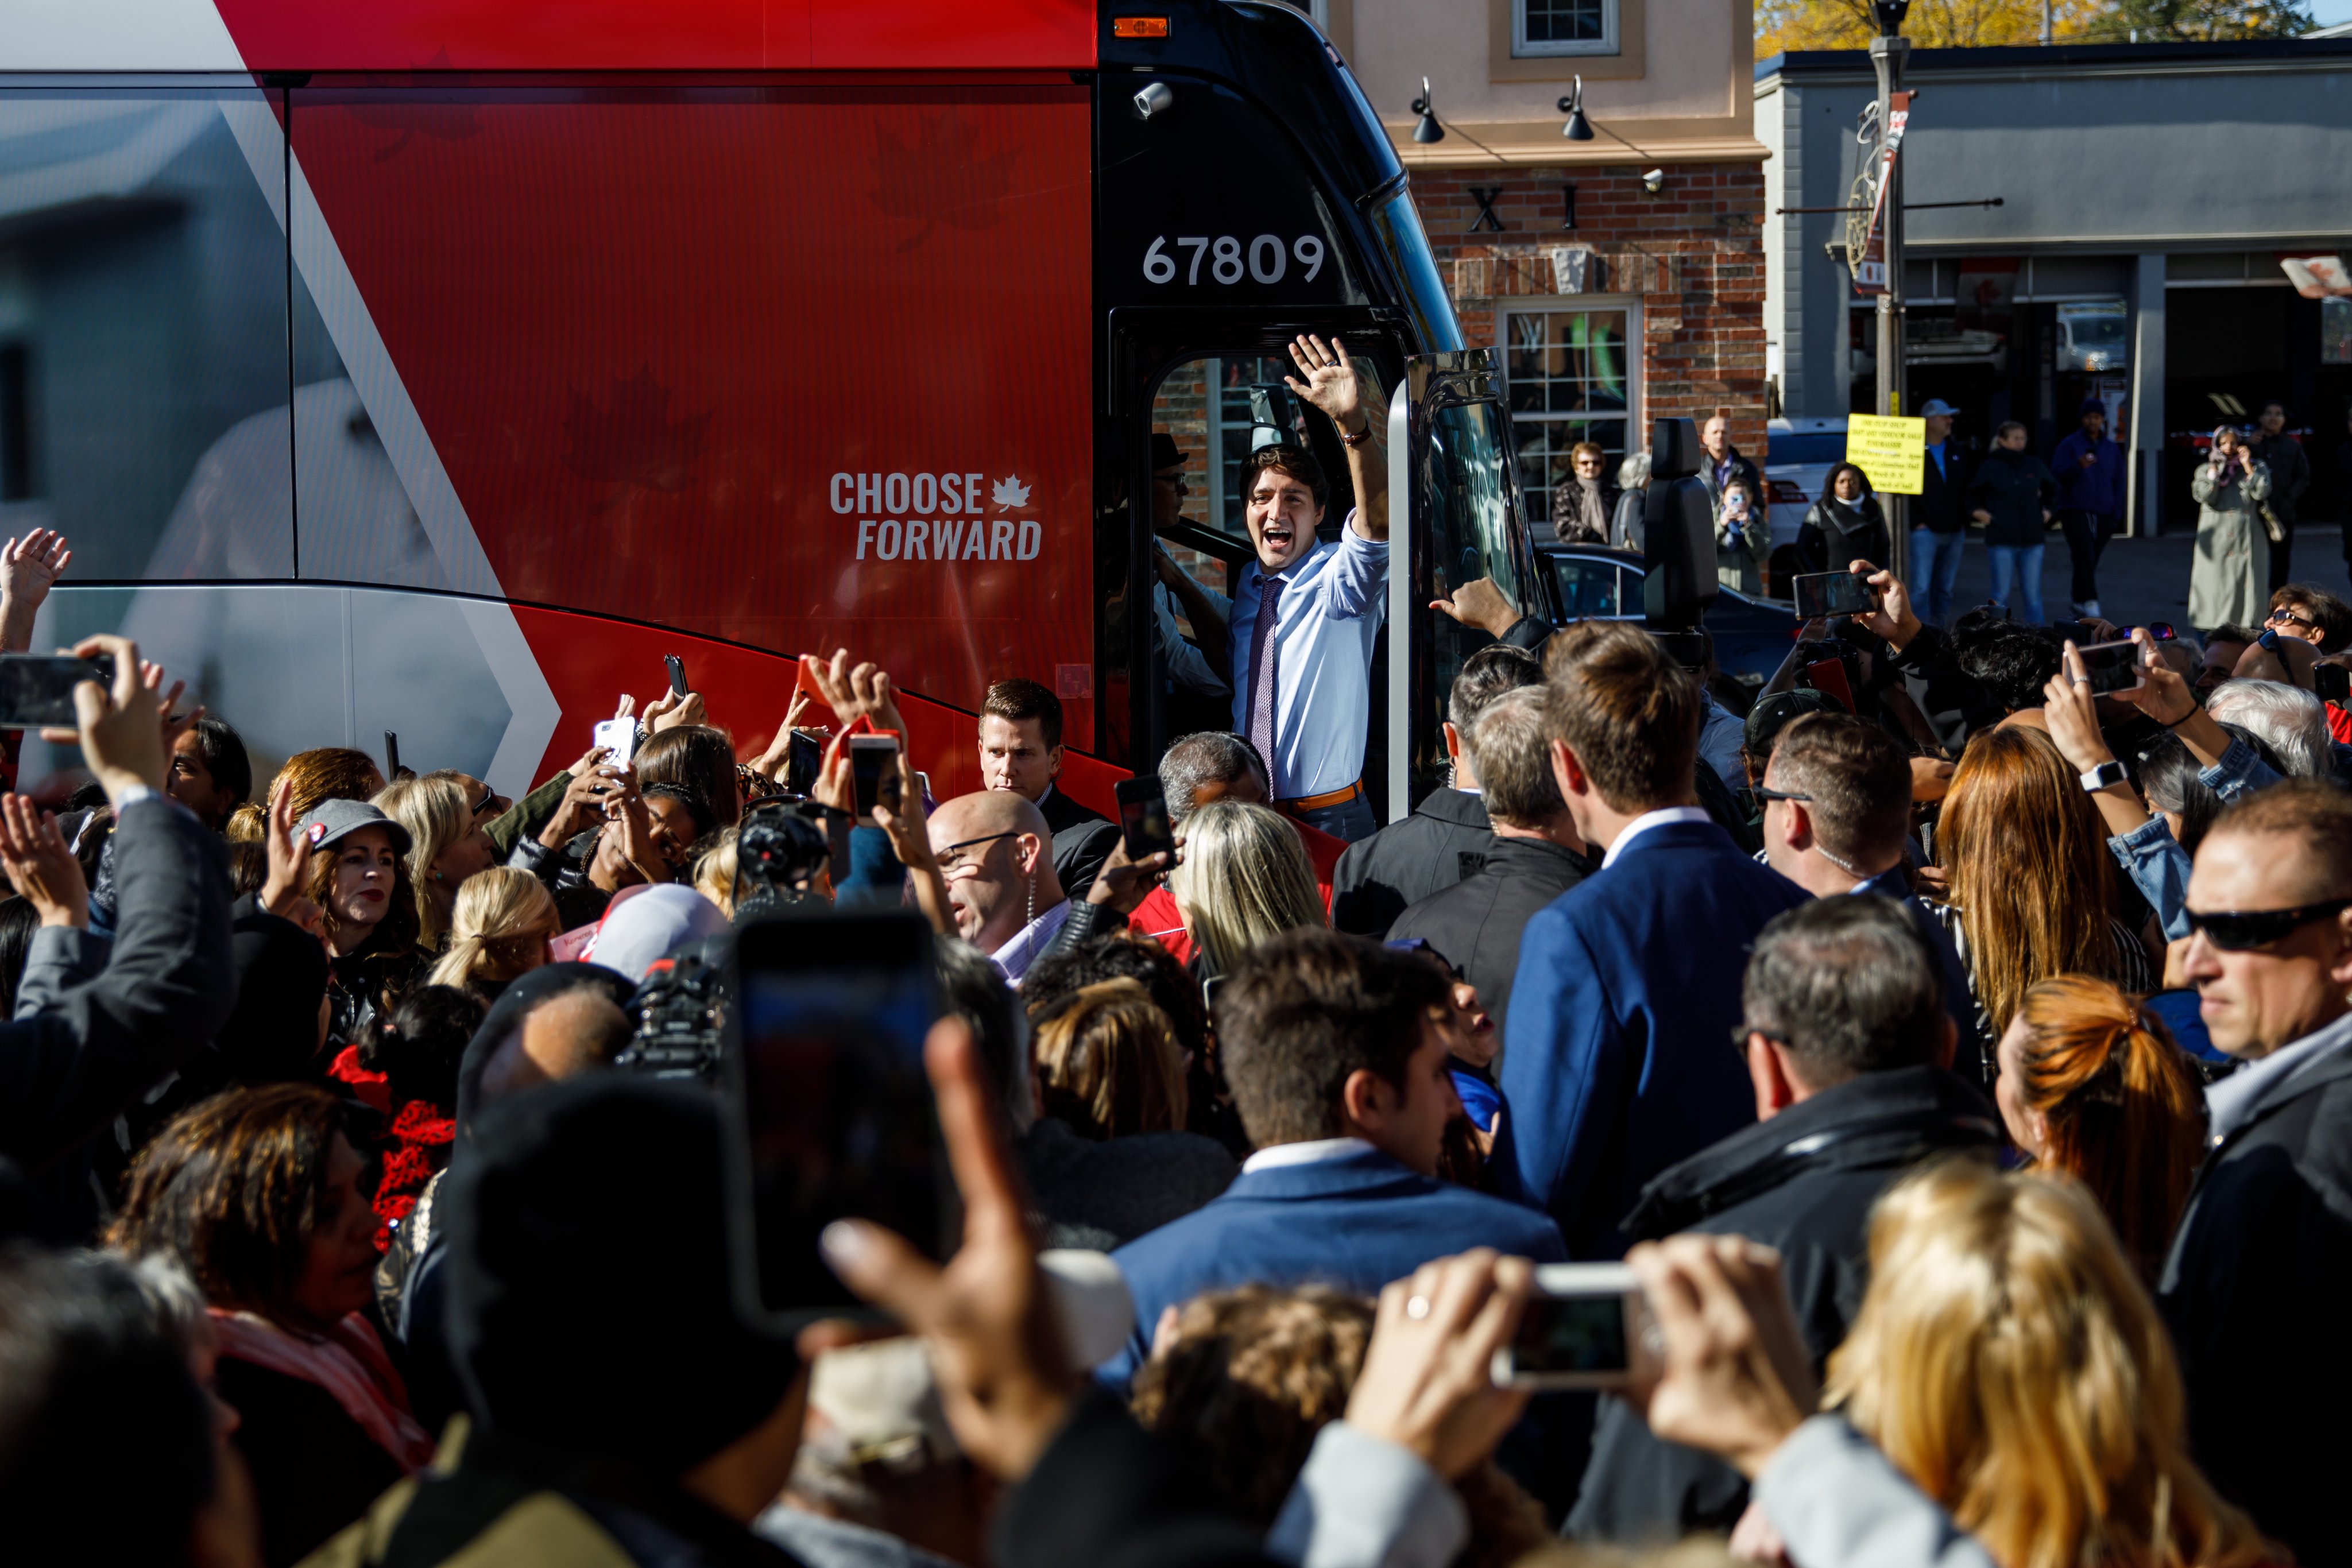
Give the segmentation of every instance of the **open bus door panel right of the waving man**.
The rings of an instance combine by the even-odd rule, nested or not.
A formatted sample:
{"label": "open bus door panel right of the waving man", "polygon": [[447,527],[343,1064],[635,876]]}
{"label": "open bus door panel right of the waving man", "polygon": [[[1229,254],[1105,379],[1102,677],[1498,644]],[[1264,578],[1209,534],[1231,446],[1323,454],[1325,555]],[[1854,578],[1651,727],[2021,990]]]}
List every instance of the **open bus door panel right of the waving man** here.
{"label": "open bus door panel right of the waving man", "polygon": [[[1432,611],[1430,602],[1494,578],[1522,611],[1559,621],[1550,583],[1536,571],[1512,454],[1494,350],[1404,362],[1388,404],[1388,776],[1374,792],[1376,799],[1385,795],[1383,820],[1402,820],[1414,802],[1446,783],[1446,693],[1463,661],[1491,642]],[[1364,783],[1371,788],[1369,776]]]}

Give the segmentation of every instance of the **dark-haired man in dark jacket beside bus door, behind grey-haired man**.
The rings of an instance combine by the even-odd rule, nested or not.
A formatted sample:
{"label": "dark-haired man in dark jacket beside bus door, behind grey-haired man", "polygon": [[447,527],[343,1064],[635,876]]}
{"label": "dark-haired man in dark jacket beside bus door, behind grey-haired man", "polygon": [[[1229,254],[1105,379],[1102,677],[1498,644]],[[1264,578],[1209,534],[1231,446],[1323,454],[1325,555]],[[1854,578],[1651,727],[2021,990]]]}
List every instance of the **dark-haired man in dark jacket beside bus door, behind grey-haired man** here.
{"label": "dark-haired man in dark jacket beside bus door, behind grey-haired man", "polygon": [[1331,879],[1331,926],[1381,936],[1409,905],[1475,872],[1491,849],[1486,804],[1479,799],[1477,759],[1465,745],[1486,703],[1519,686],[1543,684],[1534,654],[1486,646],[1463,661],[1446,698],[1446,755],[1454,785],[1430,790],[1402,823],[1348,846]]}

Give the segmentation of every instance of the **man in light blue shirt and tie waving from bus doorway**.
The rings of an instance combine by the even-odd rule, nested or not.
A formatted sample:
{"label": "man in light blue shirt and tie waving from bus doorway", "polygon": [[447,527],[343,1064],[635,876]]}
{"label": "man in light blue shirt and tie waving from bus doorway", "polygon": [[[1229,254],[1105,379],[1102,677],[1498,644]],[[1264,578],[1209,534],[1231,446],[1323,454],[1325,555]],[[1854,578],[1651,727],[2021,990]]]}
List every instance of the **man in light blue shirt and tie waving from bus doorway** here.
{"label": "man in light blue shirt and tie waving from bus doorway", "polygon": [[1272,773],[1272,804],[1348,842],[1378,827],[1364,799],[1371,642],[1388,585],[1388,458],[1371,440],[1367,383],[1334,339],[1291,341],[1284,386],[1322,409],[1348,447],[1355,510],[1338,543],[1315,536],[1331,482],[1305,447],[1258,447],[1242,465],[1249,543],[1225,614],[1232,729]]}

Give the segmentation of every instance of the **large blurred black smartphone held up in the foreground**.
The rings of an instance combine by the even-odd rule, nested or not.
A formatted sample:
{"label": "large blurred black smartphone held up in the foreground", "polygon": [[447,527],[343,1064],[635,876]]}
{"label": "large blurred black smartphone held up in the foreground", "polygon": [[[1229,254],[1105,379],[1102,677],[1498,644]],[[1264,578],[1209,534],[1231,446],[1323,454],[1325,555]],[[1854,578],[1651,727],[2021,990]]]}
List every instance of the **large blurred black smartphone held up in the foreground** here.
{"label": "large blurred black smartphone held up in the foreground", "polygon": [[922,1041],[941,1016],[920,914],[779,914],[736,933],[727,1051],[739,1312],[776,1333],[873,1319],[816,1239],[873,1220],[946,1262],[964,1211]]}

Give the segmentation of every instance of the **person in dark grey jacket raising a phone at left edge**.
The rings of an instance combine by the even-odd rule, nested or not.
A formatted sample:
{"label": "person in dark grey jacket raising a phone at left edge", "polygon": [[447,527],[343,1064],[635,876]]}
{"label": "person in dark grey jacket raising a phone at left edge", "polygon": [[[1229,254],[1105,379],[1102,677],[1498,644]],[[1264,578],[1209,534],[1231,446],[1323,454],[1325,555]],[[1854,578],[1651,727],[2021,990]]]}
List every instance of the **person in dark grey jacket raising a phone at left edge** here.
{"label": "person in dark grey jacket raising a phone at left edge", "polygon": [[[0,1234],[80,1244],[96,1222],[89,1140],[193,1056],[238,1004],[228,853],[165,795],[162,712],[139,649],[92,637],[113,691],[80,726],[82,757],[115,806],[115,940],[106,969],[31,1018],[0,1023]],[[56,839],[33,802],[7,799],[0,846],[42,860]],[[64,856],[64,844],[49,844]]]}

